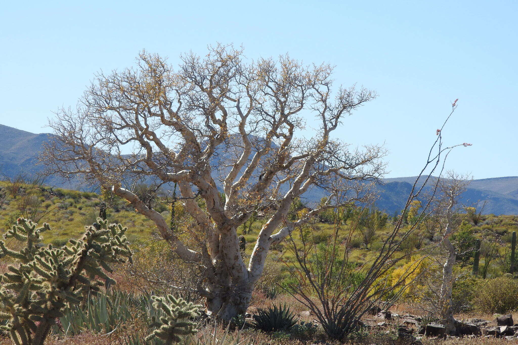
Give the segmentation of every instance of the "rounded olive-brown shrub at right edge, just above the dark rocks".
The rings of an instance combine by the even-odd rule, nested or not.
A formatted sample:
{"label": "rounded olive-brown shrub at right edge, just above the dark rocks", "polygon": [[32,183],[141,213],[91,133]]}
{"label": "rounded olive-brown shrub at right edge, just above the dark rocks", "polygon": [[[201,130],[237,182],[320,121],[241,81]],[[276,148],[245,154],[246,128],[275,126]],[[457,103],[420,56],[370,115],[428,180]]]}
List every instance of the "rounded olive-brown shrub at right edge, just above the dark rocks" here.
{"label": "rounded olive-brown shrub at right edge, just above the dark rocks", "polygon": [[518,281],[508,277],[487,280],[477,289],[476,305],[487,313],[507,313],[518,310]]}

